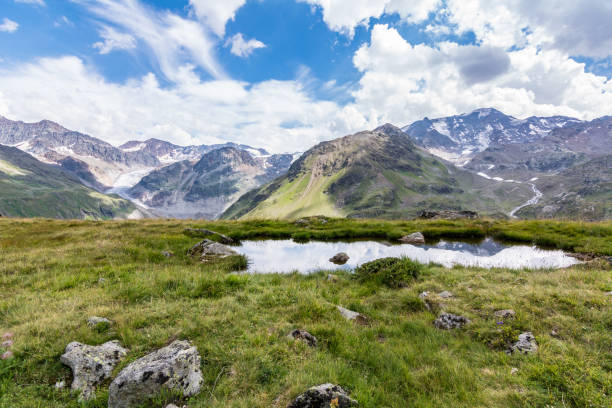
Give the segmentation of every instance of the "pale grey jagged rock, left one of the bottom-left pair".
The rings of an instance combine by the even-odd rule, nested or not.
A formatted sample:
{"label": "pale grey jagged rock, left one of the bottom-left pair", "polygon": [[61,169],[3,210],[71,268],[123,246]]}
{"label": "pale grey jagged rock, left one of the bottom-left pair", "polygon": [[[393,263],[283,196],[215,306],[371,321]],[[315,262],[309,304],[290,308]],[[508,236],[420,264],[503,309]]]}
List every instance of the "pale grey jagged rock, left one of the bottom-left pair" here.
{"label": "pale grey jagged rock, left one of the bottom-left pair", "polygon": [[96,385],[110,377],[127,353],[117,340],[100,346],[72,342],[60,360],[72,369],[72,390],[81,391],[81,399],[88,400],[94,396]]}

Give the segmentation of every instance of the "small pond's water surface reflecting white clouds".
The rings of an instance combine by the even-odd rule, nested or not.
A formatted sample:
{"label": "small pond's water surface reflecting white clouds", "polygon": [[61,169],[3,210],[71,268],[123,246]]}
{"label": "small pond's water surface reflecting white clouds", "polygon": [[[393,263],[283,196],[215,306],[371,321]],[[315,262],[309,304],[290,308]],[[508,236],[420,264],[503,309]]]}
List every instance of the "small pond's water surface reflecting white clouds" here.
{"label": "small pond's water surface reflecting white clouds", "polygon": [[[244,241],[236,248],[249,258],[251,272],[314,272],[321,269],[352,269],[364,262],[388,256],[410,259],[446,267],[454,265],[483,268],[543,269],[564,268],[578,263],[562,251],[547,251],[529,246],[504,247],[492,240],[480,245],[440,242],[436,246],[391,245],[379,242],[308,242]],[[350,260],[336,266],[329,258],[346,252]]]}

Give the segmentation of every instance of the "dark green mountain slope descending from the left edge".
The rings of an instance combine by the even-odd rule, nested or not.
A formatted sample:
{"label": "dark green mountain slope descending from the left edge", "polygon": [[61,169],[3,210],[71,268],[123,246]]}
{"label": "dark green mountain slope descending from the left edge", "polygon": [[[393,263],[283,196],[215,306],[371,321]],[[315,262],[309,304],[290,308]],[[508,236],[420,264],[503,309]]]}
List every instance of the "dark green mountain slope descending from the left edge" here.
{"label": "dark green mountain slope descending from the left edge", "polygon": [[0,145],[0,215],[9,217],[127,217],[136,207],[83,186],[74,176]]}

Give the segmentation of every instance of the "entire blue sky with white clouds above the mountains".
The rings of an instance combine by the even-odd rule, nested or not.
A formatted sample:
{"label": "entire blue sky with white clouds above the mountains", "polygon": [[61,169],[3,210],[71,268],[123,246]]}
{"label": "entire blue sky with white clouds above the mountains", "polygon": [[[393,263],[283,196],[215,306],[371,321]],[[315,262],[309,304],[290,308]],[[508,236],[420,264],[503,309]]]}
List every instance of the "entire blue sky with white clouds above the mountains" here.
{"label": "entire blue sky with white clouds above the mountains", "polygon": [[271,152],[493,107],[612,113],[609,0],[1,0],[0,115]]}

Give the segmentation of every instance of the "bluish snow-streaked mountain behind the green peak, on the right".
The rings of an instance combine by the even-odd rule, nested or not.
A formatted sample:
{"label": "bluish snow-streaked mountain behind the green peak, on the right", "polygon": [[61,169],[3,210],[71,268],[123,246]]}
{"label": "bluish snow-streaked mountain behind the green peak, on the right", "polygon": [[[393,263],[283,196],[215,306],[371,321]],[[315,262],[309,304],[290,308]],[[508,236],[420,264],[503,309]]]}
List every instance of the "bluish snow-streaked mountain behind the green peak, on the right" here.
{"label": "bluish snow-streaked mountain behind the green peak, on the right", "polygon": [[446,118],[425,118],[402,130],[431,153],[463,165],[489,146],[530,143],[553,129],[580,122],[565,116],[517,119],[487,108]]}

